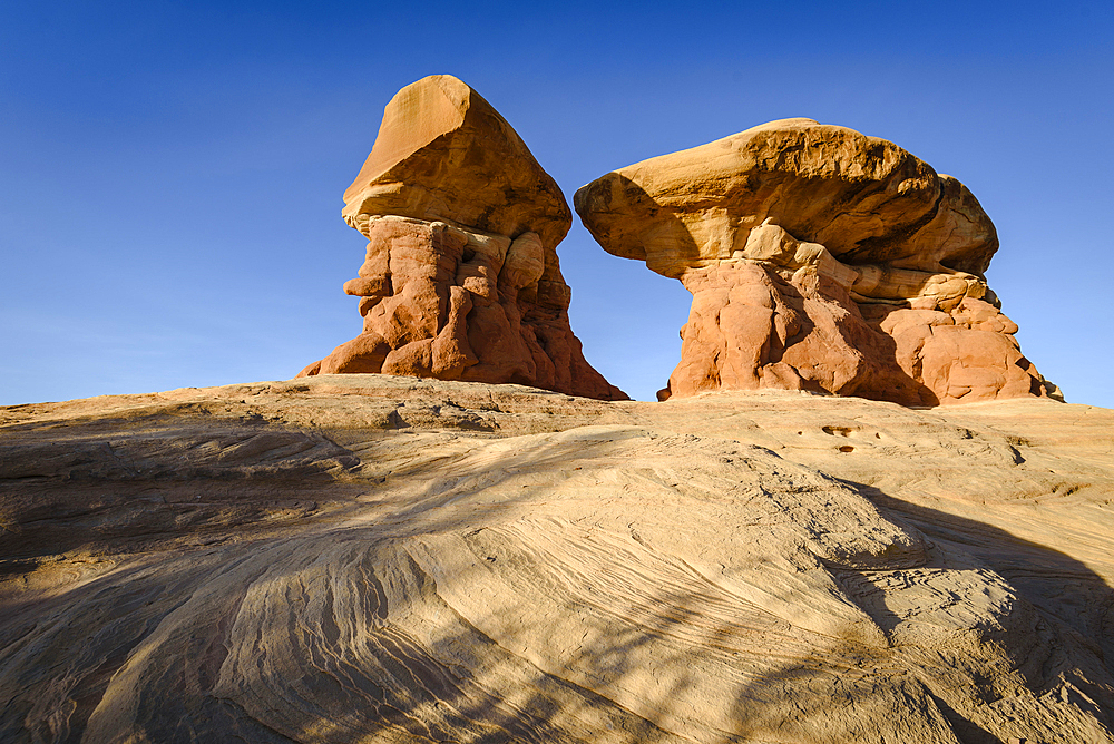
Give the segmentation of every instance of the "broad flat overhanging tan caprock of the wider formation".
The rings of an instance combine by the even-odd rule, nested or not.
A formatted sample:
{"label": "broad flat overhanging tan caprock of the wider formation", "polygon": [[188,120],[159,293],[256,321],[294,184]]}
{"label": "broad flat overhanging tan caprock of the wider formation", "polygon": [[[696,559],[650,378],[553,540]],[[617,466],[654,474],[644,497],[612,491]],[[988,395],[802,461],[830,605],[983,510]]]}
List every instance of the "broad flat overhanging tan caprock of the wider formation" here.
{"label": "broad flat overhanging tan caprock of the wider formation", "polygon": [[675,278],[731,258],[763,223],[848,264],[981,274],[998,247],[955,178],[885,139],[803,118],[615,170],[574,203],[605,251]]}

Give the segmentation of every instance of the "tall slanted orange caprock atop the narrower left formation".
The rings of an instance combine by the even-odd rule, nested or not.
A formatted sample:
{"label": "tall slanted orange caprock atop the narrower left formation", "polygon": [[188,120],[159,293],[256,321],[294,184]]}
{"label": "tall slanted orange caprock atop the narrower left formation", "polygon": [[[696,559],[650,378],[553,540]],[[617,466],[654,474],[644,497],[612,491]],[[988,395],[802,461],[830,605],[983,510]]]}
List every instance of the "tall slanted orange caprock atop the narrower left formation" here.
{"label": "tall slanted orange caprock atop the narrower left formation", "polygon": [[400,90],[360,175],[344,192],[344,219],[360,215],[442,219],[554,248],[573,225],[557,182],[495,108],[451,75]]}

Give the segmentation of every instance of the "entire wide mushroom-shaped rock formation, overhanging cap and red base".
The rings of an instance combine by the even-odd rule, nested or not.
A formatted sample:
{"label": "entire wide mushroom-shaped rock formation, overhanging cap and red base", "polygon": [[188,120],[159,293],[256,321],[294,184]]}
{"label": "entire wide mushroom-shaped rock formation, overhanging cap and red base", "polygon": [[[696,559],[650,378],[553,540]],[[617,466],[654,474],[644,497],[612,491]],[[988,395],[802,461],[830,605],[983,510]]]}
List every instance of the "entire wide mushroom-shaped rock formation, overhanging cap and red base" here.
{"label": "entire wide mushroom-shaped rock formation, overhanging cap and red base", "polygon": [[693,293],[662,398],[773,388],[936,405],[1055,392],[986,285],[989,217],[886,140],[773,121],[609,173],[575,203],[607,252]]}

